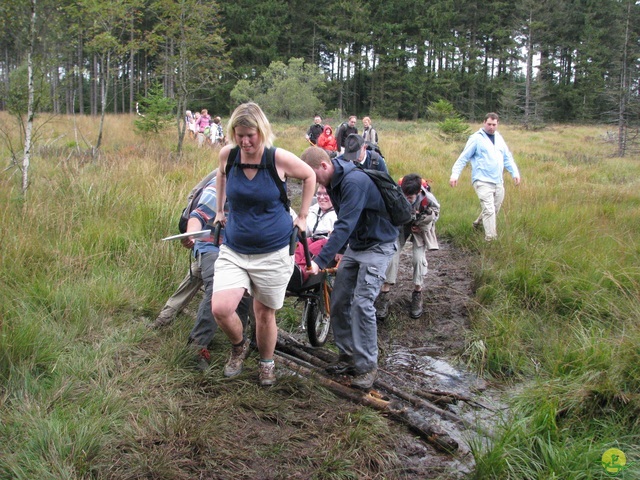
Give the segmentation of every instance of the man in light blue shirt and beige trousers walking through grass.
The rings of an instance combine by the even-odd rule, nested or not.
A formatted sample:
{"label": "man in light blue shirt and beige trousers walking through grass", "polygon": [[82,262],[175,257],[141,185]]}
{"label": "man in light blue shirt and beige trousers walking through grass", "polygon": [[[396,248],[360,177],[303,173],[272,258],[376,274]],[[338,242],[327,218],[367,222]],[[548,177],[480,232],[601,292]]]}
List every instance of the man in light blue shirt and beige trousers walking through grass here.
{"label": "man in light blue shirt and beige trousers walking through grass", "polygon": [[467,140],[464,150],[453,164],[449,185],[458,185],[458,178],[465,165],[471,160],[471,183],[480,199],[482,212],[473,222],[474,228],[484,227],[484,238],[488,242],[498,238],[496,216],[504,200],[504,169],[520,185],[520,172],[509,147],[497,132],[498,114],[487,113],[482,128]]}

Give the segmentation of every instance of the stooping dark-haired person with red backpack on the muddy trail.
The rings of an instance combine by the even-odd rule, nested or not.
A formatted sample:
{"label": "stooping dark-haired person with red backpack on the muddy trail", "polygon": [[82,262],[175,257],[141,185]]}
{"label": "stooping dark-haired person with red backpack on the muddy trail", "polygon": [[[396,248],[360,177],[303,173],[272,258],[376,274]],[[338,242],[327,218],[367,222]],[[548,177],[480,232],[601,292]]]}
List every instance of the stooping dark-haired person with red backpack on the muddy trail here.
{"label": "stooping dark-haired person with red backpack on the muddy trail", "polygon": [[440,204],[431,193],[428,182],[420,175],[411,173],[405,175],[398,182],[402,193],[409,200],[416,212],[416,219],[399,228],[398,251],[393,256],[380,295],[376,300],[376,317],[384,320],[389,313],[389,291],[395,285],[400,267],[400,255],[407,240],[411,240],[411,265],[413,267],[413,292],[409,306],[409,316],[419,318],[423,313],[422,284],[427,275],[429,263],[426,257],[427,250],[438,250],[438,238],[436,237],[436,221],[440,217]]}

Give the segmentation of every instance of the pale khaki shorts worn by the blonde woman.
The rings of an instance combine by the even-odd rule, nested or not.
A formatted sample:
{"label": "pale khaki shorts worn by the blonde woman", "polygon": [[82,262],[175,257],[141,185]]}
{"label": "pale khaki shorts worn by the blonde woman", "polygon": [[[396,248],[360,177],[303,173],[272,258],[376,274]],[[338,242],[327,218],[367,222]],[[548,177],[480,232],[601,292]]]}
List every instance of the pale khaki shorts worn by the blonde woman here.
{"label": "pale khaki shorts worn by the blonde woman", "polygon": [[223,244],[216,260],[213,291],[244,288],[263,305],[278,310],[293,273],[293,258],[288,246],[276,252],[244,255]]}

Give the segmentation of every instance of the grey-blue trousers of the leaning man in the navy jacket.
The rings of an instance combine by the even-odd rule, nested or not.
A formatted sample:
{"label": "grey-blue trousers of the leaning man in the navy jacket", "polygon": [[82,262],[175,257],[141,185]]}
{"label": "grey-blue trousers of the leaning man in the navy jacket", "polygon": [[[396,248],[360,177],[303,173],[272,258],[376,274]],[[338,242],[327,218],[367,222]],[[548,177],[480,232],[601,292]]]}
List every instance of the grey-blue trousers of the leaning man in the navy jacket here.
{"label": "grey-blue trousers of the leaning man in the navy jacket", "polygon": [[358,374],[378,367],[378,326],[373,302],[397,250],[396,242],[362,251],[347,248],[338,266],[331,292],[331,327],[338,350],[353,357]]}

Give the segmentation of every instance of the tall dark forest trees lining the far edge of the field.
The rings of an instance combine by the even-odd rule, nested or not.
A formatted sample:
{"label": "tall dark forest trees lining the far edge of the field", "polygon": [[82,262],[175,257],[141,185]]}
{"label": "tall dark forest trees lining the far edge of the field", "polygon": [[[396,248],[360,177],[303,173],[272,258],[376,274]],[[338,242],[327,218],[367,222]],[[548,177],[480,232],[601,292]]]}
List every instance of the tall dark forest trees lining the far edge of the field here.
{"label": "tall dark forest trees lining the far edge of the field", "polygon": [[323,74],[316,104],[341,115],[428,118],[447,100],[470,120],[638,119],[634,0],[4,0],[0,109],[24,98],[32,9],[53,113],[134,112],[159,82],[179,112],[225,115],[239,81],[300,58]]}

